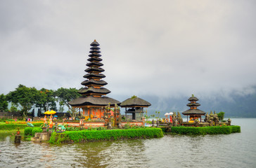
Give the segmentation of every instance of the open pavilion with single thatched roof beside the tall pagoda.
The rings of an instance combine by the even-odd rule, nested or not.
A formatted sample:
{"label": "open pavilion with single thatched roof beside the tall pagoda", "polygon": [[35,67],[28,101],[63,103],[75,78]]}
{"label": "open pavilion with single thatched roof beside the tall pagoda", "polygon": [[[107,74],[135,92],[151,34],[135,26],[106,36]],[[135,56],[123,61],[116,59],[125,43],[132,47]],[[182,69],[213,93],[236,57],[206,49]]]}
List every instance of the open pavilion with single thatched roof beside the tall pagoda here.
{"label": "open pavilion with single thatched roof beside the tall pagoda", "polygon": [[133,96],[124,100],[120,106],[125,107],[125,118],[127,118],[127,114],[132,114],[132,120],[141,120],[144,112],[143,108],[151,106],[151,104],[146,100]]}

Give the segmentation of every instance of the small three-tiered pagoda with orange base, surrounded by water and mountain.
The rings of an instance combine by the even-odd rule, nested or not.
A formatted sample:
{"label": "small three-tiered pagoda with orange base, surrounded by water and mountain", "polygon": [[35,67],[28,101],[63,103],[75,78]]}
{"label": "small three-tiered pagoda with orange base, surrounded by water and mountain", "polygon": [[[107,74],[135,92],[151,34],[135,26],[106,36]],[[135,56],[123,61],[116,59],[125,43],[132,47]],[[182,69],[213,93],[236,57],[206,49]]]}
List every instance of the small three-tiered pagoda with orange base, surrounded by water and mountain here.
{"label": "small three-tiered pagoda with orange base, surrounded by water and mountain", "polygon": [[190,103],[186,104],[186,106],[189,106],[190,109],[184,111],[182,114],[187,116],[187,121],[189,116],[189,123],[193,123],[196,119],[201,122],[202,116],[205,116],[205,112],[198,109],[198,106],[200,106],[200,104],[197,103],[198,98],[194,97],[192,94],[192,97],[190,97],[188,101],[190,101]]}

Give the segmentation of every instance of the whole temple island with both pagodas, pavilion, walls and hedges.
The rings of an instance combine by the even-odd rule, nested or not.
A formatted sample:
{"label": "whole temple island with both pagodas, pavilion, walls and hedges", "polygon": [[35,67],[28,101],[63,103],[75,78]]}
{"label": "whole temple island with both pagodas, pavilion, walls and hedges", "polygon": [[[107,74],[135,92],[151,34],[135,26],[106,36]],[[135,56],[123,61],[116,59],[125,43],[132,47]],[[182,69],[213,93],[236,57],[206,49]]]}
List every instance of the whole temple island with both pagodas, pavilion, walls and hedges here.
{"label": "whole temple island with both pagodas, pavilion, walls and hedges", "polygon": [[[46,122],[46,116],[44,118],[44,126],[42,133],[36,133],[35,137],[32,138],[32,141],[42,141],[49,140],[51,137],[51,143],[58,143],[60,139],[62,141],[87,141],[87,134],[84,132],[81,139],[72,140],[70,134],[65,134],[65,136],[70,137],[67,139],[63,139],[62,136],[58,133],[63,133],[65,130],[70,131],[70,127],[73,127],[71,130],[84,130],[86,131],[88,128],[94,130],[113,130],[111,136],[106,135],[104,132],[98,132],[97,134],[104,135],[95,135],[101,137],[102,139],[129,139],[129,138],[153,138],[153,137],[162,137],[162,130],[164,132],[177,132],[182,134],[190,134],[191,132],[201,132],[202,134],[229,134],[232,132],[240,132],[240,127],[230,127],[231,120],[227,120],[225,122],[219,121],[219,118],[216,113],[207,113],[205,115],[204,111],[198,109],[200,104],[198,103],[198,98],[192,94],[192,97],[188,99],[189,103],[186,106],[189,107],[188,110],[184,111],[182,114],[186,116],[186,121],[183,121],[181,114],[177,112],[167,113],[167,118],[161,120],[160,118],[155,118],[154,120],[146,120],[146,115],[144,115],[145,108],[151,106],[151,103],[147,102],[144,99],[141,99],[136,96],[132,96],[124,100],[123,102],[119,102],[116,99],[107,97],[106,95],[110,93],[110,90],[105,88],[108,84],[103,80],[105,75],[103,72],[105,71],[102,66],[101,61],[101,51],[99,48],[99,43],[95,40],[91,43],[91,50],[89,51],[89,58],[87,59],[89,62],[87,63],[87,69],[84,71],[87,72],[83,77],[86,78],[81,84],[84,86],[82,89],[78,91],[81,94],[77,99],[73,99],[69,102],[70,106],[72,106],[74,111],[77,109],[82,109],[82,116],[76,120],[73,118],[72,120],[53,120],[52,114],[49,119],[49,125]],[[125,108],[125,115],[121,115],[120,107]],[[56,113],[56,112],[55,112]],[[46,113],[45,113],[46,114]],[[168,119],[169,115],[169,119]],[[203,119],[205,117],[205,119]],[[53,123],[55,123],[53,125]],[[28,124],[29,125],[29,124]],[[68,125],[68,127],[67,127]],[[209,127],[215,126],[213,131],[212,129],[208,129]],[[227,126],[227,127],[222,127]],[[146,127],[158,127],[155,130],[148,130]],[[159,127],[162,129],[159,129]],[[184,127],[204,127],[201,130],[188,130],[184,129]],[[137,133],[127,131],[132,128],[144,128],[146,130],[138,130]],[[46,130],[49,129],[49,132]],[[117,129],[122,129],[122,133],[115,132]],[[208,129],[208,130],[207,130]],[[143,132],[143,133],[141,133]],[[153,133],[154,132],[154,133]],[[53,136],[51,136],[53,133]],[[74,134],[77,134],[74,132]],[[119,137],[118,137],[119,136]],[[125,137],[127,136],[127,137]],[[130,137],[132,136],[132,137]],[[135,136],[135,137],[133,137]],[[60,139],[59,139],[59,138]],[[87,140],[86,140],[87,139]],[[92,138],[94,139],[94,138]],[[88,140],[89,141],[89,140]]]}

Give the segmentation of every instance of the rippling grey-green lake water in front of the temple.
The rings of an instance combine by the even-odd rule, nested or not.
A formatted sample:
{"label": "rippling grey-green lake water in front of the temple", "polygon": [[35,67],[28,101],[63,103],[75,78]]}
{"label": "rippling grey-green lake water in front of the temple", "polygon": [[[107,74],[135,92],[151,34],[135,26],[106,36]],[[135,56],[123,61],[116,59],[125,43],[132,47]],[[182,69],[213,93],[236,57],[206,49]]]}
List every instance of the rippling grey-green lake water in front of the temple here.
{"label": "rippling grey-green lake water in front of the temple", "polygon": [[233,118],[241,133],[160,139],[35,144],[0,135],[0,167],[256,167],[256,118]]}

